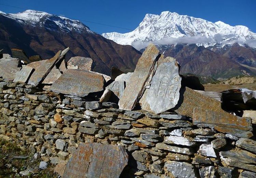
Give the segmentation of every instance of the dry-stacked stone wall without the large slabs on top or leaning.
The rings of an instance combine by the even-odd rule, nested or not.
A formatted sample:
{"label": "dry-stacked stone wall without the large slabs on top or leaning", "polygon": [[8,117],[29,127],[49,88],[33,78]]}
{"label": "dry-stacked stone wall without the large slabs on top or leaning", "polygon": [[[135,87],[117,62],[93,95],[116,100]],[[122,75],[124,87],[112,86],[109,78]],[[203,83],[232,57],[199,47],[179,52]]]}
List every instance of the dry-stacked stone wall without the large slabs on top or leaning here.
{"label": "dry-stacked stone wall without the large slabs on top or leaning", "polygon": [[97,142],[125,147],[129,161],[120,177],[256,177],[254,137],[198,128],[175,112],[117,108],[0,81],[0,138],[62,166],[59,174],[80,143]]}

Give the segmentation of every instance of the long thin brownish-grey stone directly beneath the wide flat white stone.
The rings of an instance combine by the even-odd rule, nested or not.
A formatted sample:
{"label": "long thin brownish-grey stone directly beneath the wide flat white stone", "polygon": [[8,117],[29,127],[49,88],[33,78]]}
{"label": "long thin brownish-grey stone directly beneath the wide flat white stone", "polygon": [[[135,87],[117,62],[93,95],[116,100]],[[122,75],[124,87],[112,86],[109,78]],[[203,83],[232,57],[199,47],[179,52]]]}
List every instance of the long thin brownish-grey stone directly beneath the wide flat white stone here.
{"label": "long thin brownish-grey stone directly beneath the wide flat white stone", "polygon": [[173,153],[182,153],[185,155],[193,155],[194,154],[194,152],[191,148],[181,148],[181,147],[177,147],[177,146],[170,146],[165,143],[157,143],[156,148],[162,149],[162,150],[167,150],[167,151],[173,152]]}

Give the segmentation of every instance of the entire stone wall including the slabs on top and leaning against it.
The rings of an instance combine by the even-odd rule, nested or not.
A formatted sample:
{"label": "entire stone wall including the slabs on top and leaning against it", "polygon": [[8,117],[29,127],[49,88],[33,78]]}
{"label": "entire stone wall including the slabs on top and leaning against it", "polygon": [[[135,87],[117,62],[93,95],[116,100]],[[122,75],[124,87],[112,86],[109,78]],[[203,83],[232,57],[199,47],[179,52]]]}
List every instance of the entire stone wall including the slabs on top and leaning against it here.
{"label": "entire stone wall including the slabs on top and leaning against it", "polygon": [[224,111],[218,93],[182,82],[174,58],[150,45],[133,73],[114,69],[109,77],[89,71],[87,58],[67,67],[67,50],[23,66],[0,59],[14,60],[16,70],[12,78],[1,71],[0,138],[42,159],[34,170],[54,164],[62,177],[256,177],[252,119]]}

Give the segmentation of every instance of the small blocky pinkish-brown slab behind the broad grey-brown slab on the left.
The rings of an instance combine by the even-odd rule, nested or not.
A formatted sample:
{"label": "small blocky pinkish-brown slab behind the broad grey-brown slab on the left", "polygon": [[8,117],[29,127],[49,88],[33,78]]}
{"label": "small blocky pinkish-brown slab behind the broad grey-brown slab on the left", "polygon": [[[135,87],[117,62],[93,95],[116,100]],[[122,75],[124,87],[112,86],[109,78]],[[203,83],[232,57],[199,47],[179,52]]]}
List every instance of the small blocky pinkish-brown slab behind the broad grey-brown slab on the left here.
{"label": "small blocky pinkish-brown slab behind the broad grey-brown slab on the left", "polygon": [[71,57],[67,63],[68,69],[91,70],[93,59],[89,57],[75,56]]}

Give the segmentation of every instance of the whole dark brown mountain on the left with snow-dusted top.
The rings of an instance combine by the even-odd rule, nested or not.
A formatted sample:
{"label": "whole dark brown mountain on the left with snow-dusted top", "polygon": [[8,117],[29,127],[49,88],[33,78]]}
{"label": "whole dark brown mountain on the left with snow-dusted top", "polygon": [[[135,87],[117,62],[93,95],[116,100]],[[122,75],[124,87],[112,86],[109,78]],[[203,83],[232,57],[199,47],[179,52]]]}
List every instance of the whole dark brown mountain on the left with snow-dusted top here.
{"label": "whole dark brown mountain on the left with snow-dusted top", "polygon": [[0,49],[23,49],[28,56],[51,58],[58,50],[70,47],[67,54],[91,57],[94,71],[110,74],[112,66],[133,71],[141,55],[131,46],[123,46],[91,31],[78,20],[45,12],[27,10],[17,14],[0,12]]}

